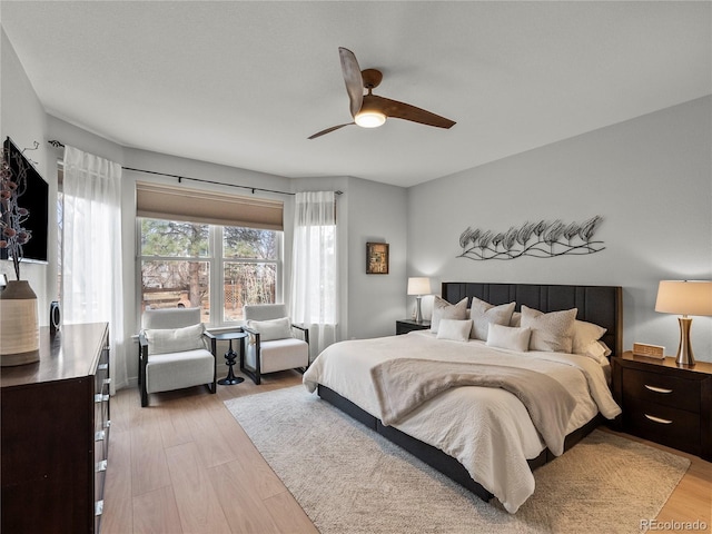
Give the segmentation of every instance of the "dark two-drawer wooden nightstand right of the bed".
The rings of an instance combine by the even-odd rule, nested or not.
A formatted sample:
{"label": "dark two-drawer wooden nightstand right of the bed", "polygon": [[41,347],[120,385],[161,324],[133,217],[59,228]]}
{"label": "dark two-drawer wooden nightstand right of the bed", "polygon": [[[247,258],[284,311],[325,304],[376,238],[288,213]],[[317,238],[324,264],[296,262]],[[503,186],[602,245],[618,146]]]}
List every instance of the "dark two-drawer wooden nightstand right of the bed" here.
{"label": "dark two-drawer wooden nightstand right of the bed", "polygon": [[624,353],[611,360],[623,432],[712,461],[712,364]]}

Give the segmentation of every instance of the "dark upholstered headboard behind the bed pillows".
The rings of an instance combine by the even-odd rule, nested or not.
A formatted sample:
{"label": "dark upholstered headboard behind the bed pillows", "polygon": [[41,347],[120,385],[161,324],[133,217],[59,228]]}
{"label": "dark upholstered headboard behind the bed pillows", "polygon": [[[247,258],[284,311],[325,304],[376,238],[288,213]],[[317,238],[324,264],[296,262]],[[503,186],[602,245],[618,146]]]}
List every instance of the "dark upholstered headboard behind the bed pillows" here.
{"label": "dark upholstered headboard behind the bed pillows", "polygon": [[455,304],[472,297],[500,305],[516,301],[516,310],[525,305],[544,313],[578,308],[576,318],[606,329],[602,340],[623,353],[623,290],[619,286],[560,286],[540,284],[488,284],[444,281],[442,296]]}

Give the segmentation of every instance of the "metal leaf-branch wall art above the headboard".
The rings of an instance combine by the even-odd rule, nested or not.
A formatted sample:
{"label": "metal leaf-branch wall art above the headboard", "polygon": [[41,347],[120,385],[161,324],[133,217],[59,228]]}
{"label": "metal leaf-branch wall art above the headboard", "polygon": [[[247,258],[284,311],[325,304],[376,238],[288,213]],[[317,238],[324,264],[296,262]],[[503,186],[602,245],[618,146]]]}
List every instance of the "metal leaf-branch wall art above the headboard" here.
{"label": "metal leaf-branch wall art above the headboard", "polygon": [[511,227],[506,231],[472,229],[467,227],[459,236],[463,251],[458,258],[474,260],[515,259],[522,256],[535,258],[553,258],[571,255],[600,253],[605,247],[603,241],[594,241],[593,235],[603,217],[596,215],[583,222],[524,222],[520,227]]}

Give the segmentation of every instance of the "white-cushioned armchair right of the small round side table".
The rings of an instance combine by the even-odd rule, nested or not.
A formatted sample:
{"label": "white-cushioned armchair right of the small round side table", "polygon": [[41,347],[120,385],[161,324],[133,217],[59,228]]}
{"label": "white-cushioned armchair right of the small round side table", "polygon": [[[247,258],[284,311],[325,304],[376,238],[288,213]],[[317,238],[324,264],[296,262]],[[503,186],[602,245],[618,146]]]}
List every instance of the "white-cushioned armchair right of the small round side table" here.
{"label": "white-cushioned armchair right of the small round side table", "polygon": [[[249,337],[240,370],[257,385],[261,375],[277,370],[297,369],[304,373],[309,366],[309,330],[293,325],[284,304],[260,304],[244,307]],[[303,339],[294,337],[297,330]]]}

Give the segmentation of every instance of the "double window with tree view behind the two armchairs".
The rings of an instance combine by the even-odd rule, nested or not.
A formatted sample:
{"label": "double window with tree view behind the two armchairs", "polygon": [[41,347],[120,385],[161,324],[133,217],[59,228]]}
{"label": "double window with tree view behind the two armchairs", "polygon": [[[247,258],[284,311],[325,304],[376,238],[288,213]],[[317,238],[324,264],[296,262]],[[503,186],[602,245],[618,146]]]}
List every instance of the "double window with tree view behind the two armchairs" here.
{"label": "double window with tree view behind the two armchairs", "polygon": [[281,231],[138,219],[141,312],[199,307],[204,323],[243,319],[280,296]]}

